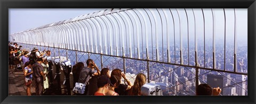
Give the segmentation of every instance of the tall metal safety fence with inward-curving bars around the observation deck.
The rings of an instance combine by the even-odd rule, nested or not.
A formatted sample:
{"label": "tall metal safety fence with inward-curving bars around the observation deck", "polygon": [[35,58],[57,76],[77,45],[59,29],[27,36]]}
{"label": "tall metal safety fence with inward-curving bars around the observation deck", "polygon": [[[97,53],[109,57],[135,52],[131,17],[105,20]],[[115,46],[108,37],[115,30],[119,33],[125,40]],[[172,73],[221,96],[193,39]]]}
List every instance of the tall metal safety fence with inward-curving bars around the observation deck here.
{"label": "tall metal safety fence with inward-curving bars around the observation deck", "polygon": [[114,8],[10,38],[25,49],[51,50],[72,65],[91,58],[130,80],[143,73],[165,96],[195,96],[200,83],[220,86],[223,96],[247,96],[247,45],[237,44],[238,10]]}

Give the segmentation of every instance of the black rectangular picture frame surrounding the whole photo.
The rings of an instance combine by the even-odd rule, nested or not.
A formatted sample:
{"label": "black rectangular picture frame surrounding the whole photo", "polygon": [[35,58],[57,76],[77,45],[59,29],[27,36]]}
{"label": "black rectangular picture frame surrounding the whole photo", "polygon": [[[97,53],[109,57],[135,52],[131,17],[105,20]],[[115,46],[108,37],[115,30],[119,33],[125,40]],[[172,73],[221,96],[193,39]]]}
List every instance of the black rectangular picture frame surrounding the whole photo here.
{"label": "black rectangular picture frame surrounding the whole photo", "polygon": [[[248,8],[248,96],[8,96],[9,8]],[[0,0],[1,103],[255,103],[255,0]],[[18,17],[17,17],[18,18]]]}

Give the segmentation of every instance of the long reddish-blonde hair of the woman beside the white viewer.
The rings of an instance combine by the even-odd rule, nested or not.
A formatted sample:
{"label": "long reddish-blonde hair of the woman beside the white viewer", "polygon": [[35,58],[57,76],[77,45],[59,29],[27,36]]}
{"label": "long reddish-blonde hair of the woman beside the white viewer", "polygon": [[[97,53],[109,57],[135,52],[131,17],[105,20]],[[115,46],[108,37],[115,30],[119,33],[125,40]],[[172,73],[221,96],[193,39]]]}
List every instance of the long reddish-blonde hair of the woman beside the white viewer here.
{"label": "long reddish-blonde hair of the woman beside the white viewer", "polygon": [[141,86],[144,84],[146,84],[146,75],[142,73],[137,74],[134,85],[130,91],[130,96],[140,95]]}

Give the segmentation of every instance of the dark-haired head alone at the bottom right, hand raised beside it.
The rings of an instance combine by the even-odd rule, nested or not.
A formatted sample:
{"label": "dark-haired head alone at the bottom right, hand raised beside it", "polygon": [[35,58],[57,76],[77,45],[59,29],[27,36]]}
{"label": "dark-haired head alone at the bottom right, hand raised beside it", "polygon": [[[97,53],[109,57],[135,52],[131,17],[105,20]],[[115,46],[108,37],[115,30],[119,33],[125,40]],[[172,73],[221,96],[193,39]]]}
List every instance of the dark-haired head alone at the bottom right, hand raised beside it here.
{"label": "dark-haired head alone at the bottom right, hand raised beside it", "polygon": [[197,86],[196,91],[197,96],[211,96],[212,95],[212,88],[208,84],[200,84]]}

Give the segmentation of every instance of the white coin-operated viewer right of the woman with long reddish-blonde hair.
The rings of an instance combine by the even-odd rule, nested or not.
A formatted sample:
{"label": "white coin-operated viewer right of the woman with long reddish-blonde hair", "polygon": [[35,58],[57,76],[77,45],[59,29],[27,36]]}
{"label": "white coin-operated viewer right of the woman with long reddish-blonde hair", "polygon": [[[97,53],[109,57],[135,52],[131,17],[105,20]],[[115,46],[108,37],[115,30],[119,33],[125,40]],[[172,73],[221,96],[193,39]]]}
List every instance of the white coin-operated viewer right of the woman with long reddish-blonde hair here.
{"label": "white coin-operated viewer right of the woman with long reddish-blonde hair", "polygon": [[160,85],[154,83],[146,83],[141,86],[141,94],[143,96],[162,96]]}

